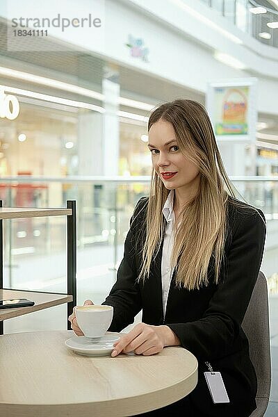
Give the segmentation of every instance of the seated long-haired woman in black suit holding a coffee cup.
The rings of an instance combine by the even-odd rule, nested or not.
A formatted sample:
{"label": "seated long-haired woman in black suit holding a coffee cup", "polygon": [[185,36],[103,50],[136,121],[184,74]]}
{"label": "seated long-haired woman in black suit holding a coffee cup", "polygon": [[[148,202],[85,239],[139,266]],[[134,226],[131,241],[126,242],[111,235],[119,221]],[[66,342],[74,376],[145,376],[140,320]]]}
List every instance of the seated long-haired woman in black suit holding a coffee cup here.
{"label": "seated long-haired woman in black suit holding a coffee cup", "polygon": [[[256,374],[241,328],[265,240],[263,213],[235,198],[204,107],[175,100],[149,117],[152,183],[138,202],[117,281],[103,304],[120,332],[142,309],[142,323],[112,356],[151,355],[180,345],[195,354],[190,395],[146,416],[250,416]],[[92,304],[90,300],[86,304]],[[82,332],[74,314],[72,329]],[[229,403],[214,404],[204,372],[222,375]]]}

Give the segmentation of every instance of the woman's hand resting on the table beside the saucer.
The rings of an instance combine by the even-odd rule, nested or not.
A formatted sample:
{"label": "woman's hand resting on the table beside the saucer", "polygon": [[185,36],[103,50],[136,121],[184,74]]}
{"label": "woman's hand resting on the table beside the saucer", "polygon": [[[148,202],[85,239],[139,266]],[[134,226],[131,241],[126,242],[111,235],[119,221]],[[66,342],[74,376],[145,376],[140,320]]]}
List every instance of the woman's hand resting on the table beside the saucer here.
{"label": "woman's hand resting on the table beside the saucer", "polygon": [[117,354],[134,352],[145,356],[159,353],[165,346],[179,345],[179,339],[167,326],[151,326],[139,323],[128,334],[115,342],[112,357]]}

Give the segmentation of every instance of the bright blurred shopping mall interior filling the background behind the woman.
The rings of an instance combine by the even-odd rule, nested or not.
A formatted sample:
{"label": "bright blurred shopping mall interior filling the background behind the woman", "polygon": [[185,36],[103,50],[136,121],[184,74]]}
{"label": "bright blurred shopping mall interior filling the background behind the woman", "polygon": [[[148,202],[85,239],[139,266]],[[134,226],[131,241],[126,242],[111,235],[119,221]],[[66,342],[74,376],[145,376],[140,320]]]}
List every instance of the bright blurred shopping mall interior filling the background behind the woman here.
{"label": "bright blurred shopping mall interior filling the background behind the woman", "polygon": [[[88,14],[90,0],[78,3]],[[102,302],[115,281],[133,208],[148,193],[149,112],[178,97],[206,105],[208,83],[256,79],[254,137],[218,145],[229,177],[268,222],[261,270],[268,279],[276,407],[278,28],[268,24],[278,21],[278,1],[101,3],[99,44],[67,39],[65,32],[26,40],[24,50],[8,39],[7,1],[0,4],[0,90],[20,105],[15,120],[0,119],[3,205],[58,207],[76,199],[77,301]],[[259,6],[263,13],[256,13]],[[64,218],[6,221],[4,239],[6,288],[66,291]],[[57,306],[8,320],[4,331],[66,327],[66,306]]]}

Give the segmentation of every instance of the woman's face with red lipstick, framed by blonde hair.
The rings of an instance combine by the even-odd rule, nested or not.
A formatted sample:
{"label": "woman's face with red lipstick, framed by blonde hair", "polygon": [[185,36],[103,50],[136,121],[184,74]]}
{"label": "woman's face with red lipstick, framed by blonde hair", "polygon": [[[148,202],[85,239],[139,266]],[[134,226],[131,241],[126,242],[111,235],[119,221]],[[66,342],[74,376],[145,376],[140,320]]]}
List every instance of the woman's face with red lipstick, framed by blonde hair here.
{"label": "woman's face with red lipstick, framed by blonde hair", "polygon": [[[199,183],[199,168],[181,154],[177,138],[170,122],[158,120],[149,129],[149,143],[152,152],[152,165],[158,177],[168,190],[179,188],[188,191]],[[176,173],[174,176],[163,172]]]}

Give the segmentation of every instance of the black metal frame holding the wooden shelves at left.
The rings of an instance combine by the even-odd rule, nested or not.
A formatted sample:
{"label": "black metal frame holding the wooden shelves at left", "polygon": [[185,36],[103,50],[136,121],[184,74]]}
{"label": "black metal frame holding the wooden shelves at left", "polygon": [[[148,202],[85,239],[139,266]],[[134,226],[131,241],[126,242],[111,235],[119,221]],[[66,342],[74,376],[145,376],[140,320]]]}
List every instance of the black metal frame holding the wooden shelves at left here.
{"label": "black metal frame holding the wooden shelves at left", "polygon": [[[3,207],[2,200],[0,200],[0,207]],[[58,294],[72,295],[72,302],[67,303],[68,317],[76,306],[76,200],[67,200],[67,208],[72,210],[72,215],[67,215],[67,293]],[[17,288],[3,288],[3,219],[0,220],[0,289],[26,291]],[[32,291],[32,293],[49,294],[45,291]],[[68,320],[67,329],[71,330]],[[3,334],[2,320],[0,321],[0,334]]]}

